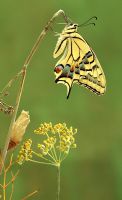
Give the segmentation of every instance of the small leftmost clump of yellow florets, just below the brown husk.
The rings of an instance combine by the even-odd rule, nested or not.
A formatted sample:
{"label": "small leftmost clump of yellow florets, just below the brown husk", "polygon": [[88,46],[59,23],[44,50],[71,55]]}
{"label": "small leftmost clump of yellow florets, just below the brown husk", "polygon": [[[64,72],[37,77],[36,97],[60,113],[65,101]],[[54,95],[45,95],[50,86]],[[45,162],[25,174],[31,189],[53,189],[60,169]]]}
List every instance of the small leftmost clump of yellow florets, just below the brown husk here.
{"label": "small leftmost clump of yellow florets, just below the brown husk", "polygon": [[28,161],[29,159],[32,158],[31,145],[32,145],[32,140],[29,139],[21,146],[21,150],[17,157],[18,164],[22,165],[24,161]]}

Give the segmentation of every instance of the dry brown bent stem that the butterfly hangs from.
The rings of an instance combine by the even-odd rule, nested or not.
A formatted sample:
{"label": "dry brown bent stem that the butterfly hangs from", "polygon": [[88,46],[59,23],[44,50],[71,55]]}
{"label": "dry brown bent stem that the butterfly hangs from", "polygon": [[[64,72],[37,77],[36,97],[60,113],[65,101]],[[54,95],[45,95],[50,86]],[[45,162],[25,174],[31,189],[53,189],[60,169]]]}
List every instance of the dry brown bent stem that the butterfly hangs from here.
{"label": "dry brown bent stem that the butterfly hangs from", "polygon": [[10,141],[10,138],[11,138],[13,124],[14,124],[14,122],[16,120],[16,115],[17,115],[17,111],[18,111],[18,108],[19,108],[19,104],[20,104],[20,100],[21,100],[21,96],[22,96],[22,92],[23,92],[23,88],[24,88],[27,67],[30,64],[30,61],[32,60],[34,54],[36,53],[40,42],[43,40],[44,36],[46,35],[48,30],[50,29],[51,24],[60,15],[62,15],[64,20],[66,21],[66,23],[68,23],[69,19],[66,16],[66,14],[65,14],[65,12],[63,10],[59,10],[58,12],[56,12],[53,15],[53,17],[48,21],[47,25],[44,27],[42,32],[40,33],[39,37],[37,38],[36,42],[34,43],[34,46],[31,49],[29,55],[25,59],[24,65],[22,66],[22,70],[21,70],[22,71],[22,79],[21,79],[19,91],[18,91],[17,98],[16,98],[16,105],[15,105],[15,109],[14,109],[14,112],[13,112],[13,115],[12,115],[12,119],[11,119],[11,122],[10,122],[8,134],[7,134],[7,137],[6,137],[6,140],[5,140],[5,145],[4,145],[4,148],[3,148],[3,151],[2,151],[2,155],[1,155],[0,174],[2,172],[2,169],[3,169],[3,166],[4,166],[4,162],[5,162],[5,159],[6,159],[7,149],[8,149],[9,141]]}

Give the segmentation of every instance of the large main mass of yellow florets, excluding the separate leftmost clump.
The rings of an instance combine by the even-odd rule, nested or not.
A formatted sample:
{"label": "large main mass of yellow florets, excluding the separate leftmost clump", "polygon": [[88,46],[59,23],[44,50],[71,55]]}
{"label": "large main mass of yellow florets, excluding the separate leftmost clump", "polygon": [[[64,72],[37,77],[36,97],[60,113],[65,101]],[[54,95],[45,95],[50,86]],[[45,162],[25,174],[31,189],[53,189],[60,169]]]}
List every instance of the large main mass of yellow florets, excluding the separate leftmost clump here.
{"label": "large main mass of yellow florets, excluding the separate leftmost clump", "polygon": [[[34,131],[36,134],[46,135],[48,138],[44,140],[45,144],[38,144],[42,152],[46,155],[50,149],[56,144],[55,148],[61,152],[68,153],[70,148],[76,148],[74,135],[77,129],[72,127],[67,128],[65,123],[58,123],[54,126],[52,123],[41,124],[38,129]],[[51,137],[49,137],[51,134]]]}

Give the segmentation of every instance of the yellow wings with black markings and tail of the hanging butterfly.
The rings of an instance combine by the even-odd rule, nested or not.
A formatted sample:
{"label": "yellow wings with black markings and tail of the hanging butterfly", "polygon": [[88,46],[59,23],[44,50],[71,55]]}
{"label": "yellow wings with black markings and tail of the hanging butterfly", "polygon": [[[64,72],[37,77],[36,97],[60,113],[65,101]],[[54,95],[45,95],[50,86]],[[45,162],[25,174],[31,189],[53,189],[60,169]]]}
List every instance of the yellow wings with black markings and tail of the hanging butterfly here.
{"label": "yellow wings with black markings and tail of the hanging butterfly", "polygon": [[55,58],[63,54],[54,69],[56,83],[67,86],[67,98],[73,83],[102,95],[106,88],[102,67],[88,43],[77,33],[76,26],[74,29],[73,25],[71,29],[69,26],[62,31],[53,54]]}

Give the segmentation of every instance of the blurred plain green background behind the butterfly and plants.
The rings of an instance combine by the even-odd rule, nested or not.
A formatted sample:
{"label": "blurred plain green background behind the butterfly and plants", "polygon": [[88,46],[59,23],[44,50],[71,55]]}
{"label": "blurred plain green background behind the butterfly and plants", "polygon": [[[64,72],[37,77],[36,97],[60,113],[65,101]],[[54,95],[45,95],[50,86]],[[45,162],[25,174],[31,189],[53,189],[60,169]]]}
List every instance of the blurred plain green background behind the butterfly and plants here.
{"label": "blurred plain green background behind the butterfly and plants", "polygon": [[[103,66],[107,91],[96,96],[74,85],[69,100],[66,87],[55,84],[52,54],[57,38],[48,32],[27,73],[19,107],[29,110],[31,123],[25,138],[35,138],[33,130],[42,122],[66,122],[78,128],[77,149],[61,168],[62,200],[122,199],[122,1],[21,0],[0,1],[0,89],[21,68],[46,22],[59,9],[81,24],[96,15],[96,27],[79,28]],[[63,22],[60,17],[56,22]],[[60,32],[62,25],[55,24]],[[13,103],[14,86],[9,96]],[[6,97],[7,99],[7,97]],[[0,113],[0,145],[3,147],[10,118]],[[17,152],[15,151],[15,155]],[[27,163],[15,183],[14,200],[39,189],[30,199],[54,200],[56,169]]]}

